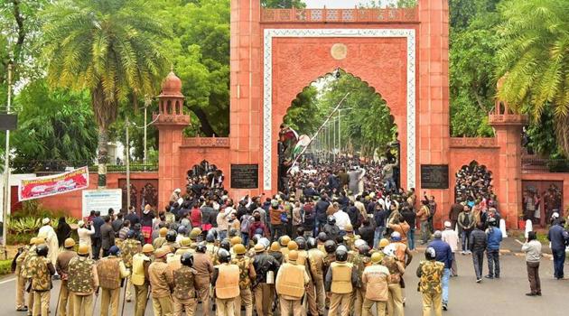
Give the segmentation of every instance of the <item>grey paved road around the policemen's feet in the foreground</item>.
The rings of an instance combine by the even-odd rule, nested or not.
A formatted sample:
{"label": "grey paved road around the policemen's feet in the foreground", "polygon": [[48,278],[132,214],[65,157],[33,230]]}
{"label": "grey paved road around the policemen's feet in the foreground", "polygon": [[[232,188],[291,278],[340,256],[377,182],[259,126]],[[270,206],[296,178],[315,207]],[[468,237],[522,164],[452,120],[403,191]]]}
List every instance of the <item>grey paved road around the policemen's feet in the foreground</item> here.
{"label": "grey paved road around the policemen's feet in the foreground", "polygon": [[[511,242],[511,241],[510,241]],[[415,291],[417,278],[415,269],[423,253],[416,253],[413,263],[406,274],[406,315],[421,315],[421,299]],[[546,314],[548,316],[567,315],[566,303],[569,298],[569,281],[557,281],[553,279],[553,263],[547,258],[542,260],[540,274],[542,280],[542,297],[527,297],[529,292],[527,283],[526,264],[521,256],[505,254],[500,257],[502,274],[499,280],[484,279],[482,283],[474,282],[474,270],[471,264],[471,256],[458,256],[458,268],[460,276],[451,279],[449,311],[443,315],[452,316],[486,316],[486,315],[515,315],[536,316]],[[486,263],[485,263],[486,264]],[[569,274],[569,266],[565,267]],[[485,265],[485,272],[486,265]],[[14,281],[7,278],[0,282],[0,315],[25,315],[23,312],[14,311]],[[51,292],[51,306],[54,309],[59,293],[59,281],[54,283]],[[99,314],[100,298],[97,302]],[[125,315],[133,315],[134,303],[126,303]],[[146,315],[152,315],[150,304]],[[53,315],[53,313],[52,313]],[[201,310],[197,315],[201,315]]]}

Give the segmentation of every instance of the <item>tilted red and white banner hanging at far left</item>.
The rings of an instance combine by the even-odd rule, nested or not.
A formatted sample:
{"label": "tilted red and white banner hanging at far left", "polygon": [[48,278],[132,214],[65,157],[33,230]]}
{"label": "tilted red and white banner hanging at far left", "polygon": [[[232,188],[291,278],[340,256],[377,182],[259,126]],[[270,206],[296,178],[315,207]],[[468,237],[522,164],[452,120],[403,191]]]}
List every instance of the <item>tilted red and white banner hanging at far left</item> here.
{"label": "tilted red and white banner hanging at far left", "polygon": [[61,174],[23,179],[18,186],[18,199],[33,200],[87,188],[89,168],[82,167]]}

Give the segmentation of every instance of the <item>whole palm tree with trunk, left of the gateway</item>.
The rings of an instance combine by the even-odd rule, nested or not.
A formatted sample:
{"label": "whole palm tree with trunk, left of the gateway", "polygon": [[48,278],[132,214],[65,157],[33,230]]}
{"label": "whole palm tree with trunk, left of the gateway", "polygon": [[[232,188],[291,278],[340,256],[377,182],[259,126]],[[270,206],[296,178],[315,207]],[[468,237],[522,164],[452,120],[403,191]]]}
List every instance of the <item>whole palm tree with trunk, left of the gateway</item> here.
{"label": "whole palm tree with trunk, left of the gateway", "polygon": [[61,0],[44,14],[52,86],[88,89],[98,124],[98,186],[107,184],[108,127],[129,98],[154,95],[170,36],[144,0]]}

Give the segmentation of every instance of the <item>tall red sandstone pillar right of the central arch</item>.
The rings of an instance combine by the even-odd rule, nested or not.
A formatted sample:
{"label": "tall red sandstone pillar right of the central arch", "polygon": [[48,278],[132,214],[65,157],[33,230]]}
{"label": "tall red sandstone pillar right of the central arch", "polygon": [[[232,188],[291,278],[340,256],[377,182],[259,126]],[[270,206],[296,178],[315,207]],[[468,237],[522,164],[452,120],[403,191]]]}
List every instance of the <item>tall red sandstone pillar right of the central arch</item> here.
{"label": "tall red sandstone pillar right of the central arch", "polygon": [[[419,20],[416,191],[422,196],[421,164],[448,165],[450,157],[448,0],[419,0]],[[452,186],[449,183],[450,190]],[[434,218],[437,227],[447,218],[450,190],[427,191],[437,200],[439,211]]]}

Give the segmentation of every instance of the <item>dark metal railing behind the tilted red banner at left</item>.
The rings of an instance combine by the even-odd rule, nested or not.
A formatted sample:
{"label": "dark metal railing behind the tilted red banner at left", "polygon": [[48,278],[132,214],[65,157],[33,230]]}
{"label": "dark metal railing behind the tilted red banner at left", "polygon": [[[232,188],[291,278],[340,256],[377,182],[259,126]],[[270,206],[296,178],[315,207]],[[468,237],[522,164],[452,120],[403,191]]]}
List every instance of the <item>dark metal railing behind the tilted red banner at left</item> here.
{"label": "dark metal railing behind the tilted red banner at left", "polygon": [[[68,161],[68,160],[31,160],[11,162],[11,168],[14,173],[39,173],[51,174],[66,172],[71,169],[89,166],[89,172],[98,172],[97,162],[94,161]],[[158,171],[157,163],[131,162],[130,172],[156,172]],[[124,163],[108,163],[107,172],[126,172]]]}

